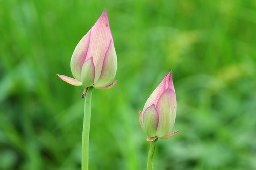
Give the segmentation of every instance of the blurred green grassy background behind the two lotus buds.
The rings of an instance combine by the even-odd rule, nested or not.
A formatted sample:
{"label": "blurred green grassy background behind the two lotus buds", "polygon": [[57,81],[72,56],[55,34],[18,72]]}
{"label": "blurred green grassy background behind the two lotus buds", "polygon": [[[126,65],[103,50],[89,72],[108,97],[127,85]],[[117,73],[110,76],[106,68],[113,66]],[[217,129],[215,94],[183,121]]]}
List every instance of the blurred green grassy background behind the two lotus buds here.
{"label": "blurred green grassy background behind the two lotus buds", "polygon": [[256,1],[0,1],[0,169],[80,169],[76,44],[104,8],[117,85],[94,90],[90,170],[146,168],[138,109],[173,70],[174,137],[155,169],[256,169]]}

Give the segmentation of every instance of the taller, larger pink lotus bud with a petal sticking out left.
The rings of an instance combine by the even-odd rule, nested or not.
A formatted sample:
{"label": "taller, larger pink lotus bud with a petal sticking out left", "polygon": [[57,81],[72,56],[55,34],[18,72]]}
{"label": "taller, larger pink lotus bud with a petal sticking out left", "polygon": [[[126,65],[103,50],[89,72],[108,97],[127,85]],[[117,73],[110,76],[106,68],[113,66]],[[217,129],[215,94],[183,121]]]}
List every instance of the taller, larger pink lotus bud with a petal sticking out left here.
{"label": "taller, larger pink lotus bud with a petal sticking out left", "polygon": [[117,70],[117,57],[106,9],[77,44],[70,66],[75,79],[58,75],[69,84],[108,89],[117,83],[112,83]]}

